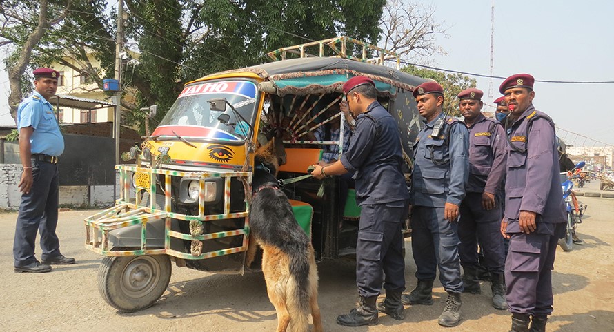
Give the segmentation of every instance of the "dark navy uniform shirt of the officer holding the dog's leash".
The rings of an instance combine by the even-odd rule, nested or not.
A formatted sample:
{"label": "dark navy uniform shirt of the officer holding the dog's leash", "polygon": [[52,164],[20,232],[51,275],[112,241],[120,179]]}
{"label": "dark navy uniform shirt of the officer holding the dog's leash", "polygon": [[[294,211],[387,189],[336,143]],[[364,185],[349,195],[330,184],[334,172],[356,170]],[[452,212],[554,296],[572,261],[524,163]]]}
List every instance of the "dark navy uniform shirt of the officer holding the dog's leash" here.
{"label": "dark navy uniform shirt of the officer holding the dog's leash", "polygon": [[401,170],[399,128],[395,118],[377,101],[357,116],[348,151],[339,160],[348,172],[355,172],[358,205],[409,198]]}

